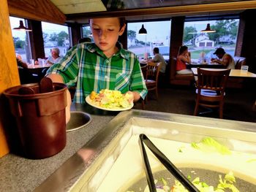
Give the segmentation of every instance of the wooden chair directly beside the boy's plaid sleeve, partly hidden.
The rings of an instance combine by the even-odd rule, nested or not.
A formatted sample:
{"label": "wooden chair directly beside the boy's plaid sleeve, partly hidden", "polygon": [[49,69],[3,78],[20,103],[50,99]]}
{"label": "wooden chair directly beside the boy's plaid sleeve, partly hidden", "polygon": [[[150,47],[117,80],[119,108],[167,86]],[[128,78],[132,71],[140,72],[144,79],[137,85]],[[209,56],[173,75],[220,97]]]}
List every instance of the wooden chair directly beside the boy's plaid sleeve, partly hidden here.
{"label": "wooden chair directly beside the boy's plaid sleeve, partly hidden", "polygon": [[148,62],[146,68],[146,78],[145,83],[148,91],[155,91],[158,99],[158,77],[159,77],[159,67],[160,63]]}

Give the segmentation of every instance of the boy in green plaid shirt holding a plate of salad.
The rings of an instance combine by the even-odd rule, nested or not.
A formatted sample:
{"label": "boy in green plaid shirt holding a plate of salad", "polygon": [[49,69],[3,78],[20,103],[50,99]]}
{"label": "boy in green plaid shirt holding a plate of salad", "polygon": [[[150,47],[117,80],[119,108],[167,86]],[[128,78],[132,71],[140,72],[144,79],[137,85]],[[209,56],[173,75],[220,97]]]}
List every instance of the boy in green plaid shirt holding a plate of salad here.
{"label": "boy in green plaid shirt holding a plate of salad", "polygon": [[[124,18],[92,18],[89,20],[94,43],[79,43],[69,50],[59,64],[48,69],[53,82],[76,85],[73,101],[84,103],[91,91],[102,89],[129,94],[130,101],[145,99],[148,90],[137,56],[121,47],[118,37],[124,33]],[[71,98],[67,91],[66,122]]]}

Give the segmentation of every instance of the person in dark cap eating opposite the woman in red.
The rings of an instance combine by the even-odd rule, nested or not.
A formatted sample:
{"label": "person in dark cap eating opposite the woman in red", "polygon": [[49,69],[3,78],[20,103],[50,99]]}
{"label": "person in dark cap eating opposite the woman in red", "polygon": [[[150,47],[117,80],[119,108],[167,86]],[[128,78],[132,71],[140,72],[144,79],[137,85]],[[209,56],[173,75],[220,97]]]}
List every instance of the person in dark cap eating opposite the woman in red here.
{"label": "person in dark cap eating opposite the woman in red", "polygon": [[227,54],[223,48],[217,48],[214,52],[219,59],[211,59],[211,62],[222,64],[227,69],[235,69],[235,61],[230,54]]}

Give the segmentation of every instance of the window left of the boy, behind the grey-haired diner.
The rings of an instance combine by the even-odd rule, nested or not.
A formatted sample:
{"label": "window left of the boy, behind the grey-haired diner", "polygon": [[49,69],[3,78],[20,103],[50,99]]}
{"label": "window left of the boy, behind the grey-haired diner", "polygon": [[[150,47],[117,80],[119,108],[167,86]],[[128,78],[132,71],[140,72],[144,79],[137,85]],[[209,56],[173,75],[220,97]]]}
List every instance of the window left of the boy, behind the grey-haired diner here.
{"label": "window left of the boy, behind the grey-haired diner", "polygon": [[44,39],[45,57],[50,56],[50,50],[58,47],[60,55],[64,56],[69,49],[69,32],[67,26],[42,22],[42,37]]}

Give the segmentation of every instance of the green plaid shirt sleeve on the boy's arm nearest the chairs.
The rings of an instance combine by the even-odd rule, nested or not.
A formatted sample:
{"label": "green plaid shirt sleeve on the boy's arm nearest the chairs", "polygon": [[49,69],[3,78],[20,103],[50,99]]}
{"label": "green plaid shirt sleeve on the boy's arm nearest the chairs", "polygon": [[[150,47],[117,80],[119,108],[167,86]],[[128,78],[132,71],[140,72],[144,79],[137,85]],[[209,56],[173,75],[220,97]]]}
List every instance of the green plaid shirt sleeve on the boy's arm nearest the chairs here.
{"label": "green plaid shirt sleeve on the boy's arm nearest the chairs", "polygon": [[137,58],[135,58],[135,65],[132,70],[132,82],[130,86],[131,91],[136,91],[140,93],[140,97],[145,99],[148,89],[146,88],[146,83],[144,81],[143,73],[140,69],[140,63]]}

